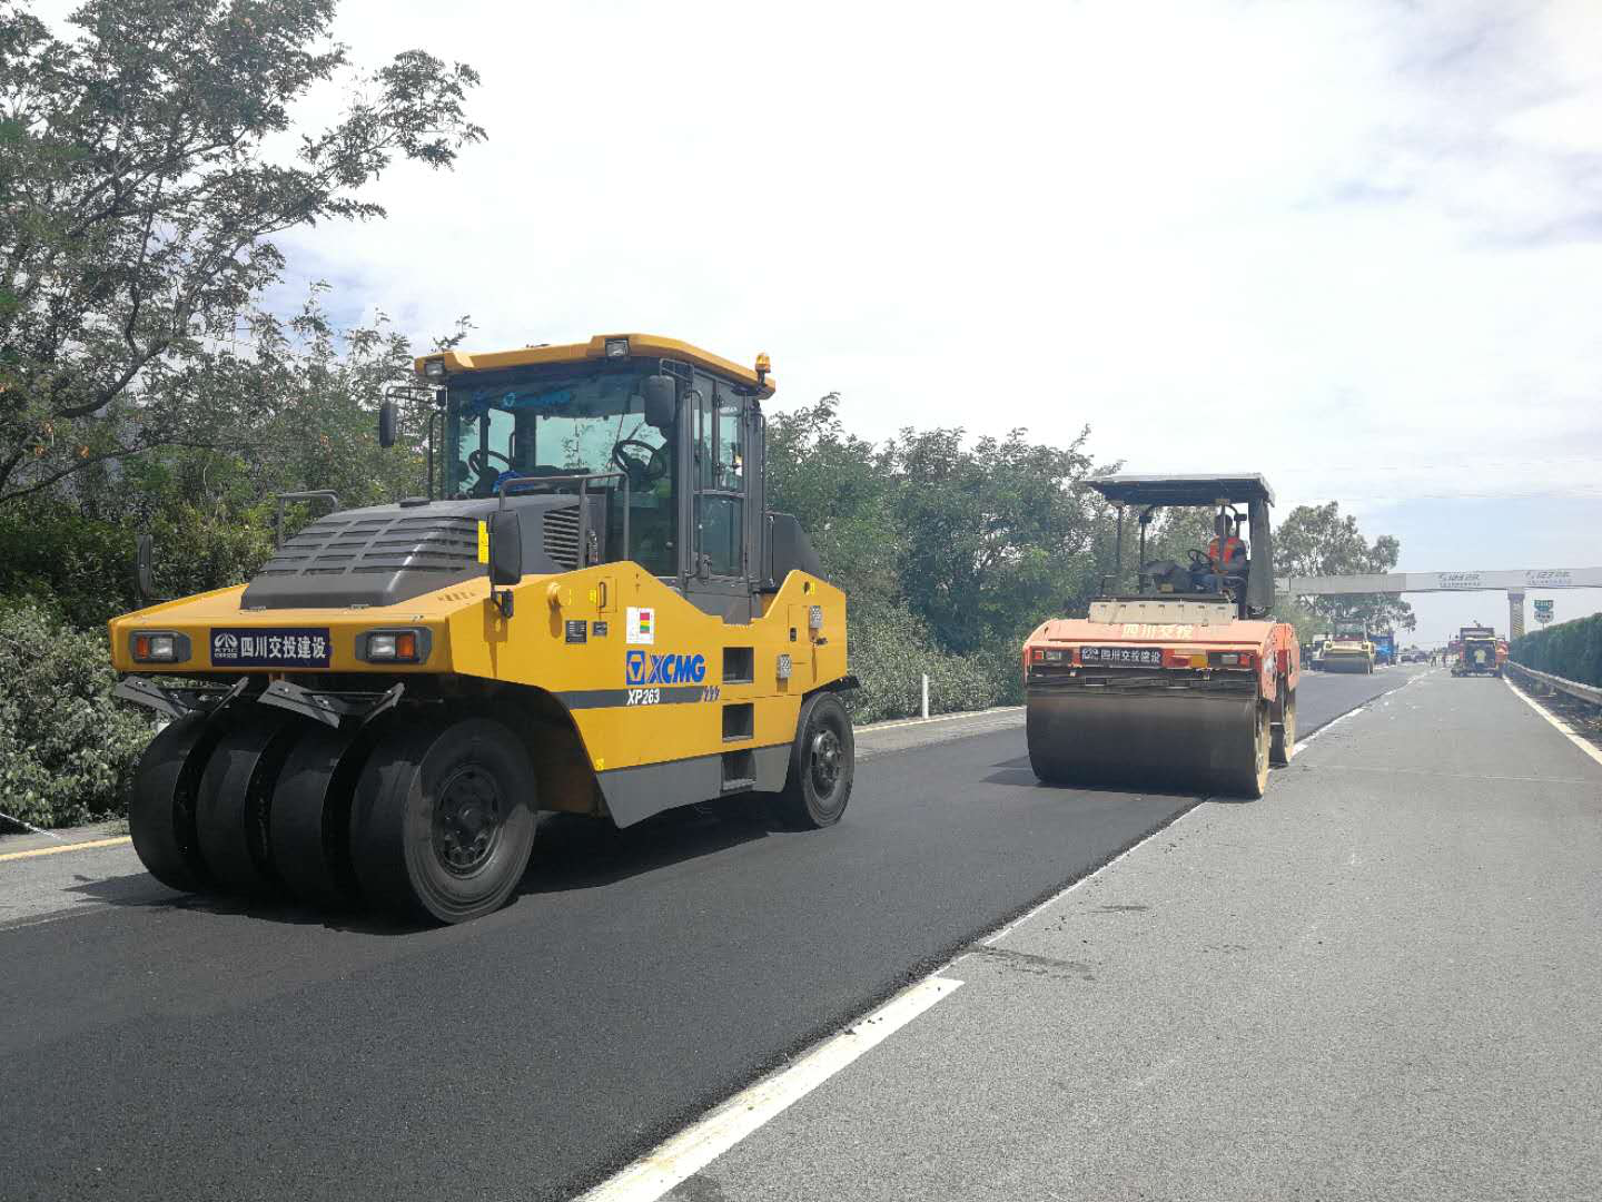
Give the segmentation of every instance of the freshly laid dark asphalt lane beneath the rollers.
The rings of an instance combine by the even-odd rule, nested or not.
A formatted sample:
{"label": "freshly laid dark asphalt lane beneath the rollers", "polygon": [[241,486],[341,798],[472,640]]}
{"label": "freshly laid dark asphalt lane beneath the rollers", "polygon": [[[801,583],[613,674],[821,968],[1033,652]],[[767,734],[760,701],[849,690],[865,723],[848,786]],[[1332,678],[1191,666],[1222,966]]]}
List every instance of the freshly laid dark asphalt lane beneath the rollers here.
{"label": "freshly laid dark asphalt lane beneath the rollers", "polygon": [[[1307,673],[1302,736],[1415,675]],[[1045,789],[1016,713],[862,752],[827,832],[548,821],[457,928],[0,862],[0,1196],[569,1197],[1198,801]]]}

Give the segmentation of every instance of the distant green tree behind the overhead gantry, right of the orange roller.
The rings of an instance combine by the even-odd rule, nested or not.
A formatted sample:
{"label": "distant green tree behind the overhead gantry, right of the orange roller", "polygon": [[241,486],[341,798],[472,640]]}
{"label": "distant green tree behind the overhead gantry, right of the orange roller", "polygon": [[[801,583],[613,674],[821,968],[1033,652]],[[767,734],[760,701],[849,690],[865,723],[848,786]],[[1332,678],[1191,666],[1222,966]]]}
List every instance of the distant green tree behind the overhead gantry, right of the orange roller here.
{"label": "distant green tree behind the overhead gantry, right of the orange roller", "polygon": [[[1274,534],[1278,575],[1371,575],[1391,572],[1402,543],[1384,534],[1367,542],[1357,518],[1342,514],[1336,502],[1298,505]],[[1350,620],[1413,630],[1413,606],[1392,593],[1309,596],[1302,604],[1326,622]]]}

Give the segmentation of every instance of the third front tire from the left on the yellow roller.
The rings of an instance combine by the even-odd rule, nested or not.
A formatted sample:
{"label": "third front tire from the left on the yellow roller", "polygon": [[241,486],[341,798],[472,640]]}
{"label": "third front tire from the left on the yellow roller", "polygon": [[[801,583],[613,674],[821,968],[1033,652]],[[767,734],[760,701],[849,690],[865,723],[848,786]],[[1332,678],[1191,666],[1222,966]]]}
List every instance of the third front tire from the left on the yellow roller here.
{"label": "third front tire from the left on the yellow roller", "polygon": [[372,728],[308,729],[272,790],[272,867],[296,901],[344,909],[360,896],[351,865],[351,798],[372,752]]}

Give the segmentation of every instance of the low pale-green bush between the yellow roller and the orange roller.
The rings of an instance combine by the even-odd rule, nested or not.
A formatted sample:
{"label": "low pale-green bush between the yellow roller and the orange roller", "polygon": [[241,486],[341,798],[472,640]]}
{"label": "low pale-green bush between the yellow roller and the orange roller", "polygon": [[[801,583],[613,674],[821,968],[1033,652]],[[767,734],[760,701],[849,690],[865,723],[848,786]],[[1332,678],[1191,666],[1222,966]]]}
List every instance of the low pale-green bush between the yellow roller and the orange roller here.
{"label": "low pale-green bush between the yellow roller and the orange roller", "polygon": [[[934,647],[924,625],[904,606],[867,603],[847,607],[851,672],[862,688],[847,694],[859,723],[920,713],[923,673],[929,673],[929,712],[984,710],[1009,700],[1019,675],[998,673],[993,655],[953,655]],[[1016,657],[1014,657],[1016,659]]]}

